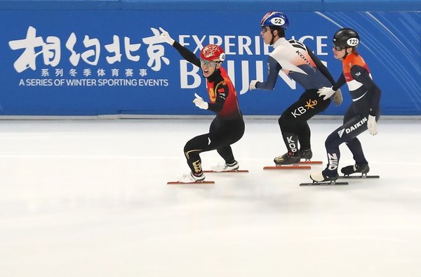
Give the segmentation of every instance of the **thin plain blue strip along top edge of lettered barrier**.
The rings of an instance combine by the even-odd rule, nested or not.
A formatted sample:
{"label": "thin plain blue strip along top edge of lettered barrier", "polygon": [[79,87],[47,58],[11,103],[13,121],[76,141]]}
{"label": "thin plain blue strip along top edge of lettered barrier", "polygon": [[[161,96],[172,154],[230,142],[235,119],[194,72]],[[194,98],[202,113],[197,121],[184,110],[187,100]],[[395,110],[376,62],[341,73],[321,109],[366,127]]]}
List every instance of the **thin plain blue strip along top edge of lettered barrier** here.
{"label": "thin plain blue strip along top edge of lettered barrier", "polygon": [[0,10],[421,11],[421,0],[0,0]]}

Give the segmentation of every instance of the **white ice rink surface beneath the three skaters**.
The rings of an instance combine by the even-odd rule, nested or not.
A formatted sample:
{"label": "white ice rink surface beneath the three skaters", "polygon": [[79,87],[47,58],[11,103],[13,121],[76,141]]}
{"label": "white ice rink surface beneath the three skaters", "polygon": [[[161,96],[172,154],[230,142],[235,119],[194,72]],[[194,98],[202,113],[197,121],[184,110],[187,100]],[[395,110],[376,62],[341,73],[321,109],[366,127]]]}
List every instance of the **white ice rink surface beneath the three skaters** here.
{"label": "white ice rink surface beneath the three skaters", "polygon": [[263,170],[286,152],[277,121],[246,120],[233,149],[248,173],[167,185],[209,124],[1,120],[0,276],[421,276],[421,120],[359,136],[380,179],[299,186],[325,167],[340,120],[309,122],[323,165],[285,171]]}

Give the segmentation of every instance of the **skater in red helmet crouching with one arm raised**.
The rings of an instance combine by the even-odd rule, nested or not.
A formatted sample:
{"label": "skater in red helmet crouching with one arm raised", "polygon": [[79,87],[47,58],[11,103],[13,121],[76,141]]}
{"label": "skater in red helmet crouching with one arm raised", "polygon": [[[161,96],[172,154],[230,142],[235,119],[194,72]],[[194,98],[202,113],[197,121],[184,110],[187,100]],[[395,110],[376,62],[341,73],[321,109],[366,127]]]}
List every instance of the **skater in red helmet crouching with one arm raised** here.
{"label": "skater in red helmet crouching with one arm raised", "polygon": [[203,98],[195,94],[196,98],[193,103],[203,110],[216,113],[207,134],[187,141],[184,152],[187,165],[192,172],[180,176],[178,181],[182,183],[203,181],[205,175],[202,172],[199,154],[210,150],[217,150],[225,160],[225,164],[213,167],[214,171],[239,169],[239,163],[234,159],[231,145],[243,136],[244,121],[234,84],[229,79],[227,71],[222,67],[222,62],[225,60],[224,51],[218,45],[209,44],[203,47],[200,58],[198,58],[192,51],[172,39],[168,32],[162,28],[160,30],[161,38],[174,46],[189,63],[201,67],[203,77],[206,78],[209,102],[203,101]]}

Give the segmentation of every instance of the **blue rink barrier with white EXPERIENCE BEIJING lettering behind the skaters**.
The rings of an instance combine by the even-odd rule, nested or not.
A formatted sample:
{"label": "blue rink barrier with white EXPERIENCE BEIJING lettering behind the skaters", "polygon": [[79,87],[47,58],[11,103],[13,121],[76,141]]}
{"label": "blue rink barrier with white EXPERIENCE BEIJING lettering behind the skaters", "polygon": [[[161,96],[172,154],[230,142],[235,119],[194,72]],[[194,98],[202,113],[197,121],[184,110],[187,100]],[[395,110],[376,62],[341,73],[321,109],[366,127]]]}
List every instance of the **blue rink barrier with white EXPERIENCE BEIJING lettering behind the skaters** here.
{"label": "blue rink barrier with white EXPERIENCE BEIJING lettering behind the skaters", "polygon": [[[225,4],[222,4],[225,3]],[[197,67],[159,39],[158,27],[199,55],[220,44],[244,115],[280,115],[302,94],[281,75],[274,91],[248,91],[262,79],[266,11],[284,11],[287,38],[303,41],[341,73],[332,35],[352,27],[359,52],[382,89],[383,115],[421,115],[421,1],[1,1],[0,116],[211,115]],[[235,11],[235,13],[233,12]],[[202,24],[203,18],[215,18]],[[323,115],[342,115],[349,105]]]}

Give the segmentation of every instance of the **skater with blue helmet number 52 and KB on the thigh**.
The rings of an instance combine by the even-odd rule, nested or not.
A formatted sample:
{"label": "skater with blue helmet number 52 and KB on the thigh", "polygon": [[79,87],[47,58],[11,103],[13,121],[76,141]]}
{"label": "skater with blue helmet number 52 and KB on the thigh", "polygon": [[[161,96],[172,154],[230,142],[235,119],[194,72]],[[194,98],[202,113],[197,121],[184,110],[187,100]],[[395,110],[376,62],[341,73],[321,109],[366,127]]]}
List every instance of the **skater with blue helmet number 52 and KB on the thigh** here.
{"label": "skater with blue helmet number 52 and KB on the thigh", "polygon": [[[287,153],[275,157],[274,162],[276,165],[290,165],[300,162],[300,159],[310,160],[313,154],[307,121],[328,108],[330,99],[323,101],[317,90],[333,85],[335,80],[311,49],[300,41],[285,38],[285,30],[289,25],[285,14],[271,11],[263,16],[260,25],[262,39],[265,44],[273,46],[274,50],[267,57],[269,70],[266,81],[252,80],[250,89],[273,90],[281,70],[305,89],[298,101],[279,117],[279,127]],[[335,105],[340,105],[341,91],[338,89],[332,98]]]}

